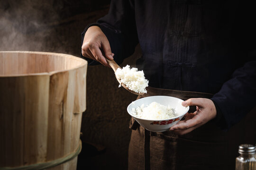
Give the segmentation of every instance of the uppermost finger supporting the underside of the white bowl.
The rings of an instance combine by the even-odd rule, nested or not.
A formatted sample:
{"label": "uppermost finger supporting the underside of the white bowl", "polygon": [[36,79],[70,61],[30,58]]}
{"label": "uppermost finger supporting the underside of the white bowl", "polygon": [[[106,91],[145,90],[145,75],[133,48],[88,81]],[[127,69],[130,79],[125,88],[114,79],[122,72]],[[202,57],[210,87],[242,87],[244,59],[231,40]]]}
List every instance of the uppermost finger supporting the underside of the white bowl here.
{"label": "uppermost finger supporting the underside of the white bowl", "polygon": [[[192,113],[193,114],[193,113]],[[183,120],[181,123],[177,123],[170,130],[188,129],[201,124],[201,119],[198,115],[195,115],[192,119]]]}

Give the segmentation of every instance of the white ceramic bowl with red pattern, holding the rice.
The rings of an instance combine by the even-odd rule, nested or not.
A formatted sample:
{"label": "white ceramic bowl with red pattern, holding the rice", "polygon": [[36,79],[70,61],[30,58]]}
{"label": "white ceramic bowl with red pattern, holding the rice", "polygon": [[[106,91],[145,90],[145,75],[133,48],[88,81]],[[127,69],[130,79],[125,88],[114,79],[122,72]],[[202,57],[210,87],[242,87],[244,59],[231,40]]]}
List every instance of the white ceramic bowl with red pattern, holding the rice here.
{"label": "white ceramic bowl with red pattern, holding the rice", "polygon": [[[133,115],[132,108],[140,107],[142,104],[149,105],[151,102],[158,102],[165,106],[170,106],[171,108],[174,108],[175,114],[177,115],[174,118],[169,119],[142,119],[136,117],[136,115]],[[128,113],[142,126],[145,127],[147,130],[152,132],[164,132],[166,130],[169,130],[170,127],[177,124],[183,116],[188,112],[189,106],[184,107],[182,106],[183,100],[176,98],[176,97],[170,97],[170,96],[150,96],[150,97],[144,97],[141,99],[138,99],[132,103],[130,103],[127,107]]]}

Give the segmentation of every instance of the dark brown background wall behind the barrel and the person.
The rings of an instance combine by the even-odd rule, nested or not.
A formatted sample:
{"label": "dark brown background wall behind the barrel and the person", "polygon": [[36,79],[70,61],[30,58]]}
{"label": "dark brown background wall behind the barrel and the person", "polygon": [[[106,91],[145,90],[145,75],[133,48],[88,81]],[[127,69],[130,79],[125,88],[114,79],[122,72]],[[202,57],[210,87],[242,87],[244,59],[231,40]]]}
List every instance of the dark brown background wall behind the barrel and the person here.
{"label": "dark brown background wall behind the barrel and the person", "polygon": [[[0,51],[47,51],[79,56],[85,26],[108,13],[110,0],[0,0]],[[121,66],[134,66],[135,54]],[[136,99],[111,68],[88,67],[87,109],[78,170],[127,169],[128,104]]]}

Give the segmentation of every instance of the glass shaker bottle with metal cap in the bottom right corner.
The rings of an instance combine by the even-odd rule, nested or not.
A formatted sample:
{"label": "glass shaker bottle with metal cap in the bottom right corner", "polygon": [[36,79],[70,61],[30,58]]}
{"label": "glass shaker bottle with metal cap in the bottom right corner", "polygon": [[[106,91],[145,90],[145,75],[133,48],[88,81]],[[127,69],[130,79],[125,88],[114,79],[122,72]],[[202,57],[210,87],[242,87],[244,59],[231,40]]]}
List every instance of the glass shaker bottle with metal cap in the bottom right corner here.
{"label": "glass shaker bottle with metal cap in the bottom right corner", "polygon": [[256,148],[252,144],[240,144],[236,158],[236,170],[256,170]]}

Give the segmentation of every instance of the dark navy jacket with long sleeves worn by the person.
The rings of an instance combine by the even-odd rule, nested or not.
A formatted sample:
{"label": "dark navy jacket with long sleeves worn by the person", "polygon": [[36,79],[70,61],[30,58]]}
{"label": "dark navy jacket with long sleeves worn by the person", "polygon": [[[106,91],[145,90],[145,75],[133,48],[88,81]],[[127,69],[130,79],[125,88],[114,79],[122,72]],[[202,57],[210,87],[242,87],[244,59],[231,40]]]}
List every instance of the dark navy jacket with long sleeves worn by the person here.
{"label": "dark navy jacket with long sleeves worn by the person", "polygon": [[213,93],[227,129],[256,106],[254,10],[235,0],[112,0],[109,14],[89,26],[101,27],[118,63],[139,43],[137,68],[150,86]]}

